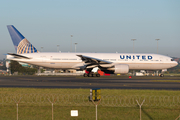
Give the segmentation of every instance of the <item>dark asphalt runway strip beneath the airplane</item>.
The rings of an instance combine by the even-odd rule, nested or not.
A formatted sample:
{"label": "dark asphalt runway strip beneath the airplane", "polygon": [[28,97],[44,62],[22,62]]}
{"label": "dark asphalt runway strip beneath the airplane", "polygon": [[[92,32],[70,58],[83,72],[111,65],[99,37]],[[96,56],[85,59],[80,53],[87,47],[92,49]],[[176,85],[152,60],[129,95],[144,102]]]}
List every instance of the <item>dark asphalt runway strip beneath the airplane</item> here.
{"label": "dark asphalt runway strip beneath the airplane", "polygon": [[180,90],[180,77],[0,76],[0,87]]}

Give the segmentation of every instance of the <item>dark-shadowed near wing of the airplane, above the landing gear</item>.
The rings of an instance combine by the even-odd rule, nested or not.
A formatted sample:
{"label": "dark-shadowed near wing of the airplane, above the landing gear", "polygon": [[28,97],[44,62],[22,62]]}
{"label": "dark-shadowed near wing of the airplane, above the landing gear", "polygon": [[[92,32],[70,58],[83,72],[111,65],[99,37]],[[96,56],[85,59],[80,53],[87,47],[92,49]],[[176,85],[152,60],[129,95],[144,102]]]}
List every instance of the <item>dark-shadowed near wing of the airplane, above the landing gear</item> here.
{"label": "dark-shadowed near wing of the airplane, above the landing gear", "polygon": [[78,57],[81,58],[82,61],[84,61],[87,64],[91,65],[100,65],[100,64],[111,64],[112,62],[101,60],[98,58],[93,58],[89,56],[84,56],[84,55],[77,55]]}

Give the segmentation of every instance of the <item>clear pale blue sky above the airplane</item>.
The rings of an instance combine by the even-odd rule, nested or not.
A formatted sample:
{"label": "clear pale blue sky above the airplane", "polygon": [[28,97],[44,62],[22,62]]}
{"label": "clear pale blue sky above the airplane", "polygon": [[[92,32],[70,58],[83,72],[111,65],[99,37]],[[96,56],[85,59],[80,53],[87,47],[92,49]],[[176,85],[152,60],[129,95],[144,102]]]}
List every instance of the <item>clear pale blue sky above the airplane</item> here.
{"label": "clear pale blue sky above the airplane", "polygon": [[[158,53],[180,58],[180,0],[3,0],[0,59],[14,25],[39,51]],[[71,39],[71,35],[73,35]],[[71,42],[72,41],[72,42]],[[71,44],[72,43],[72,44]]]}

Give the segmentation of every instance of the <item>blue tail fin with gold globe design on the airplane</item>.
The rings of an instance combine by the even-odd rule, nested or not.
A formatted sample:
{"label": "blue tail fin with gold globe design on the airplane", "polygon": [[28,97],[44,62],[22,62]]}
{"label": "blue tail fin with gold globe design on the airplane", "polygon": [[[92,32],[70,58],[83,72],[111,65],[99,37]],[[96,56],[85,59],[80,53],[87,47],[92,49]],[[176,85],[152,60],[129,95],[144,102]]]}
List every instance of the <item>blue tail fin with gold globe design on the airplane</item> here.
{"label": "blue tail fin with gold globe design on the airplane", "polygon": [[7,25],[7,28],[17,54],[38,52],[38,50],[13,25]]}

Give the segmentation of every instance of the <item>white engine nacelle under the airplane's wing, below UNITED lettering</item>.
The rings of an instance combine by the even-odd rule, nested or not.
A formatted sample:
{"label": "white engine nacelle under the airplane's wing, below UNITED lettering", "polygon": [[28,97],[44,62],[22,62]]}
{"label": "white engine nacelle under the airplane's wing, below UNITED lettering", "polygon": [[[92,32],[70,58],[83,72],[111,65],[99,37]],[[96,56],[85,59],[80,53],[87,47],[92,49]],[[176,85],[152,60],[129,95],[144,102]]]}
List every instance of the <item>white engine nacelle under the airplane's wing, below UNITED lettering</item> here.
{"label": "white engine nacelle under the airplane's wing, below UNITED lettering", "polygon": [[129,65],[117,64],[114,65],[114,73],[116,74],[127,74],[129,72]]}

